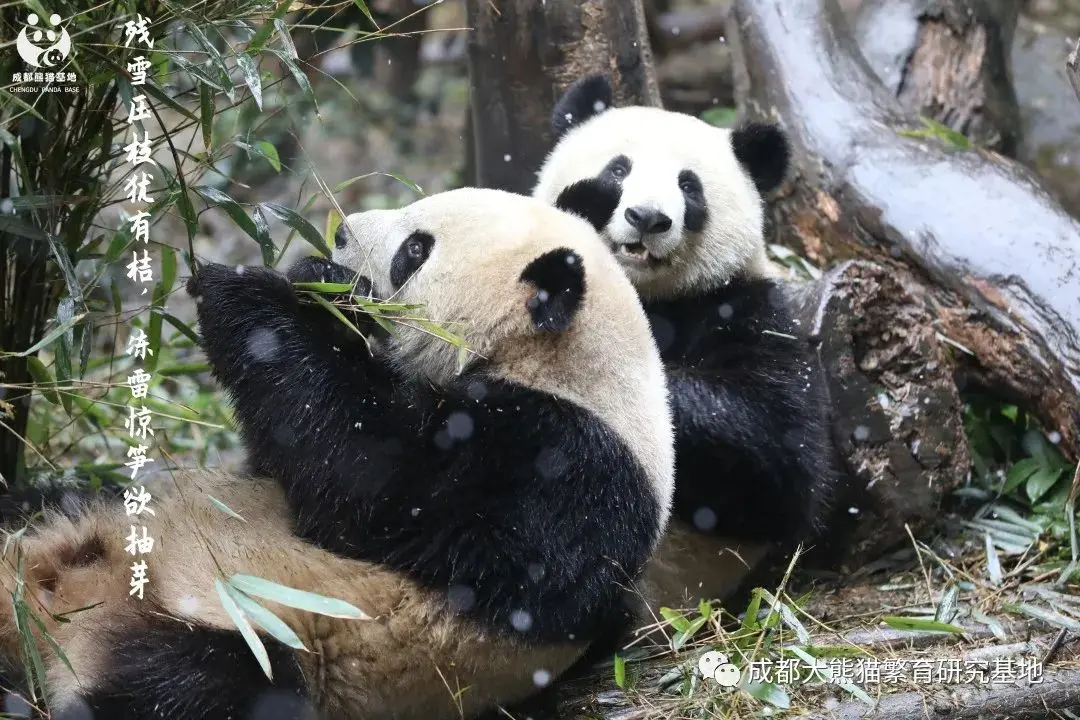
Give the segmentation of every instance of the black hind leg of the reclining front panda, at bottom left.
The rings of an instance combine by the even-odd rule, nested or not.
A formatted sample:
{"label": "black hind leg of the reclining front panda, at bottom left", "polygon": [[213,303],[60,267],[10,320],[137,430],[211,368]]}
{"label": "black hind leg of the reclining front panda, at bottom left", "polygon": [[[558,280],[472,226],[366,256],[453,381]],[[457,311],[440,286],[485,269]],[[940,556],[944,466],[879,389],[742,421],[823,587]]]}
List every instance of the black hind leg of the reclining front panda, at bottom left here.
{"label": "black hind leg of the reclining front panda, at bottom left", "polygon": [[[316,720],[295,651],[262,637],[273,681],[235,630],[144,616],[109,634],[90,687],[53,720]],[[99,654],[98,654],[99,653]]]}

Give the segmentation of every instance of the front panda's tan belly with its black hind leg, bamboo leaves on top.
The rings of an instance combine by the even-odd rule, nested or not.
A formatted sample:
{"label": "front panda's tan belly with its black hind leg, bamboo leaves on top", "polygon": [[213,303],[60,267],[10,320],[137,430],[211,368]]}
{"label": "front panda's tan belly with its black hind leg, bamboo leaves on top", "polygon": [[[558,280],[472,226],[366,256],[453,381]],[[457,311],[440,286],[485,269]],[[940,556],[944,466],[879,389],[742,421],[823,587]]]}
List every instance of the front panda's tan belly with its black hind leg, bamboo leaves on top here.
{"label": "front panda's tan belly with its black hind leg, bamboo leaves on top", "polygon": [[[293,714],[280,717],[298,720],[450,720],[534,694],[583,651],[488,633],[401,573],[297,539],[273,483],[190,472],[176,484],[179,493],[151,503],[156,516],[127,518],[119,503],[96,507],[73,520],[55,518],[9,551],[9,568],[23,553],[27,602],[75,670],[39,638],[54,717],[91,717],[89,709],[114,720],[217,720],[284,703]],[[246,521],[211,506],[207,494]],[[141,556],[149,579],[141,600],[129,596],[136,558],[124,536],[132,520],[156,541]],[[226,578],[252,574],[345,600],[370,619],[260,600],[309,651],[260,633],[271,682],[222,607],[217,566]],[[14,592],[10,573],[2,581]],[[86,606],[95,607],[67,623],[54,620]],[[21,667],[17,638],[12,604],[4,603],[0,660],[13,667]]]}

